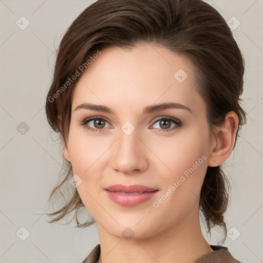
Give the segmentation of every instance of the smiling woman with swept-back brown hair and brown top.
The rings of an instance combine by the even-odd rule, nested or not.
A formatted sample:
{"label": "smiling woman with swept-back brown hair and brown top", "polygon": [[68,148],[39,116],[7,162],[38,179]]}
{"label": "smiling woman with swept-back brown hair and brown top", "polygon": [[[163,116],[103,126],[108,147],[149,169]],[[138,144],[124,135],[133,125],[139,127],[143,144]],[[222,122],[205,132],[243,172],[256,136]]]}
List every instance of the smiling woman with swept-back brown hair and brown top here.
{"label": "smiling woman with swept-back brown hair and brown top", "polygon": [[[98,0],[65,33],[47,95],[75,211],[97,222],[83,262],[239,262],[202,235],[223,229],[231,155],[246,112],[244,63],[222,16],[200,0]],[[86,208],[91,220],[80,223]]]}

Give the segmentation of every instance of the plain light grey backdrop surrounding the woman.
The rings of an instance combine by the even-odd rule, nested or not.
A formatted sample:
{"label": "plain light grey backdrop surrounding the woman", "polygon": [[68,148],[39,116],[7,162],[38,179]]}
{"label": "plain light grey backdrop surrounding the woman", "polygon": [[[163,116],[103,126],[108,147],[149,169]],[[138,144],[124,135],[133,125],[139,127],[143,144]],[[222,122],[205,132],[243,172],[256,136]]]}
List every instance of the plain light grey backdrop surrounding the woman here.
{"label": "plain light grey backdrop surrounding the woman", "polygon": [[[47,199],[62,164],[62,148],[51,133],[44,111],[54,50],[74,18],[93,2],[0,0],[0,263],[81,262],[99,243],[96,224],[78,230],[73,222],[65,226],[49,224],[42,215],[52,211]],[[244,263],[259,263],[263,262],[263,1],[206,2],[227,21],[233,21],[232,16],[240,21],[233,34],[246,60],[242,98],[249,117],[237,147],[225,163],[232,195],[226,216],[230,232],[224,246]],[[25,30],[16,25],[21,16],[30,22]],[[29,130],[23,132],[22,122]],[[30,234],[24,241],[21,238],[27,232],[22,227]],[[216,230],[212,240],[203,233],[210,243],[220,237]]]}

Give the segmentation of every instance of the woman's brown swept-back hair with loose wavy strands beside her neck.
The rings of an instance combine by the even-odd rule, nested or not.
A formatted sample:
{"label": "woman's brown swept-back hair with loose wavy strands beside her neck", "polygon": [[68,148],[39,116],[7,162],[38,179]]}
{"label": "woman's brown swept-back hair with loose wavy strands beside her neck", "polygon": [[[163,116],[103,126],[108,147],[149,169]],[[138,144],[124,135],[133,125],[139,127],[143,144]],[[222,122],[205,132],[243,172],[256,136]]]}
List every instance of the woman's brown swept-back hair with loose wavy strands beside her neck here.
{"label": "woman's brown swept-back hair with loose wavy strands beside her neck", "polygon": [[[246,112],[239,104],[244,61],[226,21],[201,0],[98,0],[86,8],[60,43],[46,99],[48,123],[59,133],[60,139],[67,143],[72,92],[76,85],[76,81],[67,83],[68,79],[98,50],[107,46],[128,49],[142,43],[165,47],[193,63],[198,92],[205,101],[210,134],[214,135],[213,128],[223,124],[227,112],[233,110],[239,119],[237,139],[239,128],[246,124]],[[64,161],[66,176],[55,186],[49,200],[73,175],[71,164]],[[200,193],[200,211],[210,234],[214,226],[223,229],[223,241],[227,234],[224,213],[228,200],[229,181],[222,167],[208,167]],[[87,227],[95,220],[79,222],[78,212],[83,207],[74,188],[67,204],[48,214],[58,215],[49,222],[75,211],[77,227]]]}

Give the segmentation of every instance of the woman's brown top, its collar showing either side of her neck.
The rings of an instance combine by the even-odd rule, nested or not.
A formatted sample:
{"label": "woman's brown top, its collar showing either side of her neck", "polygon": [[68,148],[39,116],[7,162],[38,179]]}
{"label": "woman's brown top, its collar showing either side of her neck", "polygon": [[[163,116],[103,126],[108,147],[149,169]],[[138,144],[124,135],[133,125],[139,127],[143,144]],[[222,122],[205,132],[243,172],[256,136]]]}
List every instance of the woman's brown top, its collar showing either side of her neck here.
{"label": "woman's brown top, its collar showing either side of her neck", "polygon": [[[216,245],[210,245],[214,250],[208,254],[203,255],[197,259],[194,263],[241,263],[232,257],[227,247],[221,247]],[[99,257],[101,253],[100,244],[98,244],[89,255],[82,261],[82,263],[99,263]]]}

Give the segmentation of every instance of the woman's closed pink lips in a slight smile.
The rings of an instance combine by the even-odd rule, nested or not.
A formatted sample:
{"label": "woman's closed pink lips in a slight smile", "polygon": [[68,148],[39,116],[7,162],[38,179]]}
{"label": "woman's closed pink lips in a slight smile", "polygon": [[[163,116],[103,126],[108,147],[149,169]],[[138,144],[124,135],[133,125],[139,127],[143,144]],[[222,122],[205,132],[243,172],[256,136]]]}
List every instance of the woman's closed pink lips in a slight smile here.
{"label": "woman's closed pink lips in a slight smile", "polygon": [[[107,196],[123,206],[135,206],[151,199],[159,190],[144,185],[110,185],[106,189]],[[123,193],[122,193],[123,192]],[[139,192],[134,194],[135,192]]]}

